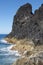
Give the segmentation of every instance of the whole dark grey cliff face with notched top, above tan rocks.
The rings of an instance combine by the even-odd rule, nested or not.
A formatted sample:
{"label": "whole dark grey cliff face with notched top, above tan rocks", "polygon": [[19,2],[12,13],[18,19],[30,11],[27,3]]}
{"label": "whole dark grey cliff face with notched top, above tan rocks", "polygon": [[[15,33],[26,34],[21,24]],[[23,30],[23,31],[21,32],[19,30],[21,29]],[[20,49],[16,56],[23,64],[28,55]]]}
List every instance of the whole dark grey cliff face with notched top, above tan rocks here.
{"label": "whole dark grey cliff face with notched top, above tan rocks", "polygon": [[31,4],[21,6],[13,19],[9,38],[31,39],[36,44],[43,43],[43,4],[32,13]]}

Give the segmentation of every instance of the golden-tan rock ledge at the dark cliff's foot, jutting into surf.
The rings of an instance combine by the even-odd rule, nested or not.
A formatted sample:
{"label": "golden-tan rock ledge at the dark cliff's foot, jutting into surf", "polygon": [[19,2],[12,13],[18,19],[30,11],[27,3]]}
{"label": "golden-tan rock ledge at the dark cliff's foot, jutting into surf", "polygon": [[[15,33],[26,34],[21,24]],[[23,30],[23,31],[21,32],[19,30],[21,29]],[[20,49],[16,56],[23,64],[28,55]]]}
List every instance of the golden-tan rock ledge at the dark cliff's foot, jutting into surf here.
{"label": "golden-tan rock ledge at the dark cliff's foot, jutting into surf", "polygon": [[10,38],[5,38],[5,40],[9,43],[15,44],[11,50],[17,50],[21,55],[23,55],[25,51],[32,51],[34,49],[34,44],[31,40],[17,40]]}

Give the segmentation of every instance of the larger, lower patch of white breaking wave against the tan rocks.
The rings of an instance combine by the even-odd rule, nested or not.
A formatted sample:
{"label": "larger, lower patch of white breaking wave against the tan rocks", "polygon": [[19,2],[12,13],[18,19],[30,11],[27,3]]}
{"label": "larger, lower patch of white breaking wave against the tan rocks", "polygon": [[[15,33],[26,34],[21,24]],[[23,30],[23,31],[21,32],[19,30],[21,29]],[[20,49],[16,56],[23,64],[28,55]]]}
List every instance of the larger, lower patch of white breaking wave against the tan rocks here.
{"label": "larger, lower patch of white breaking wave against the tan rocks", "polygon": [[1,52],[5,52],[5,53],[4,53],[4,54],[2,53],[2,54],[0,54],[0,55],[21,56],[18,51],[11,50],[11,48],[12,48],[13,46],[15,46],[15,45],[10,45],[10,46],[8,46],[8,47],[1,48],[0,51],[1,51]]}

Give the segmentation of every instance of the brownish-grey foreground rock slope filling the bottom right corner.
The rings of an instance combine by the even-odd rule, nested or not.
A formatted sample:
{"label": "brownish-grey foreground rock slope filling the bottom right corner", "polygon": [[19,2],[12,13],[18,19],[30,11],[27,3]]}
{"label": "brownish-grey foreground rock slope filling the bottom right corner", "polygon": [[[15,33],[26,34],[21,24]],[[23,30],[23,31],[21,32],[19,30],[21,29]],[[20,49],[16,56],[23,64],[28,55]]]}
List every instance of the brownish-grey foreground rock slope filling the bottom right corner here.
{"label": "brownish-grey foreground rock slope filling the bottom right corner", "polygon": [[43,52],[18,59],[13,65],[43,65]]}

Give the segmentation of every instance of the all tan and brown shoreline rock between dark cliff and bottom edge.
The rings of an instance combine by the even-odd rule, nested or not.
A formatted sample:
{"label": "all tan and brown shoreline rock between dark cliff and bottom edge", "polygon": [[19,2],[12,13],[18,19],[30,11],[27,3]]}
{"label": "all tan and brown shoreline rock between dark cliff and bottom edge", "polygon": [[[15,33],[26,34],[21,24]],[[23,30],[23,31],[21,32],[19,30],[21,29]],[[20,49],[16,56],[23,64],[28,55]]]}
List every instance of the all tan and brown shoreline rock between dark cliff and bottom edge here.
{"label": "all tan and brown shoreline rock between dark cliff and bottom edge", "polygon": [[[10,41],[8,38],[5,39],[6,41]],[[26,42],[26,39],[19,41],[16,40],[16,43],[13,41],[12,44],[16,45],[13,46],[11,50],[17,50],[21,57],[12,65],[43,65],[43,45],[34,46],[32,45],[32,41],[28,41],[28,43],[31,44],[27,44]]]}

